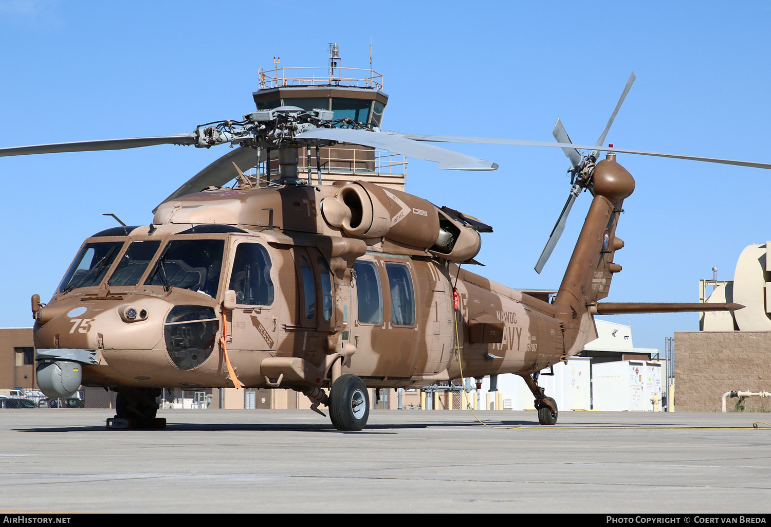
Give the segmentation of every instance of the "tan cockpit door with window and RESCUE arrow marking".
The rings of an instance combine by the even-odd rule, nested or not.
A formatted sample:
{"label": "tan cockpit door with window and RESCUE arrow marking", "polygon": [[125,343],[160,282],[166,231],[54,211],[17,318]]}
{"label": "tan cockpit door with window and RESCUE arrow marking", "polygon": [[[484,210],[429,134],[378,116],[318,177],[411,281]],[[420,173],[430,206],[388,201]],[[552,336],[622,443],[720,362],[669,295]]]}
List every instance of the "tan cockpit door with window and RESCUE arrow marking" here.
{"label": "tan cockpit door with window and RESCUE arrow marking", "polygon": [[278,272],[261,243],[241,241],[234,249],[227,289],[236,293],[236,309],[227,328],[228,350],[275,350]]}

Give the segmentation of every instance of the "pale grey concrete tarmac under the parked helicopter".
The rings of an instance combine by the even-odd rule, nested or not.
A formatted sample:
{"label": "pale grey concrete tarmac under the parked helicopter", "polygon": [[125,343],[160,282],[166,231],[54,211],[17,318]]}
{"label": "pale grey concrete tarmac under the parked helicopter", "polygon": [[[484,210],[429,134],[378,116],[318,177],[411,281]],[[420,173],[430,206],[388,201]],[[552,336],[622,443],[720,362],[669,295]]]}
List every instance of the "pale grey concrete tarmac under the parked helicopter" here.
{"label": "pale grey concrete tarmac under the parked helicopter", "polygon": [[767,513],[771,414],[0,410],[0,512]]}

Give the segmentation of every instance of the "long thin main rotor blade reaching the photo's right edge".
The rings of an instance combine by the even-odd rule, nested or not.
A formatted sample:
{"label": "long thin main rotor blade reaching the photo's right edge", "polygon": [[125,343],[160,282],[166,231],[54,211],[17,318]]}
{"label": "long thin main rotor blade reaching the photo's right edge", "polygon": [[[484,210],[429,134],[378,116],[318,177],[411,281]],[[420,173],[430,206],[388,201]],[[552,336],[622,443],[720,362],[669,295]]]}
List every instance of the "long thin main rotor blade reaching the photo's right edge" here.
{"label": "long thin main rotor blade reaching the photo's right edge", "polygon": [[[387,132],[391,133],[391,132]],[[686,159],[691,161],[704,161],[705,163],[732,164],[737,167],[754,167],[771,169],[771,163],[756,163],[753,161],[740,161],[721,159],[719,157],[686,156],[682,154],[665,154],[664,152],[650,152],[648,150],[631,150],[630,148],[598,147],[597,145],[550,143],[547,141],[527,141],[519,139],[500,139],[494,137],[459,137],[459,136],[434,136],[419,133],[399,133],[399,136],[416,141],[431,141],[435,143],[480,143],[480,144],[513,144],[521,147],[550,147],[550,148],[578,148],[581,150],[598,150],[600,152],[615,152],[618,154],[635,154],[640,156],[670,157],[672,159]]]}

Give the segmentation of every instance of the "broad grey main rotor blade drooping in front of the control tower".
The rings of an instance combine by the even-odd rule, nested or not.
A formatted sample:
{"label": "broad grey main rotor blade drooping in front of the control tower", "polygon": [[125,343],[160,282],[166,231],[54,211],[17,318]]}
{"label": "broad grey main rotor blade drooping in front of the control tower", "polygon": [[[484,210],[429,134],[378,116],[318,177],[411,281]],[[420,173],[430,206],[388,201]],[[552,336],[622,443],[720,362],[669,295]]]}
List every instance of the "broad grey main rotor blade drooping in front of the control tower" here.
{"label": "broad grey main rotor blade drooping in front of the control tower", "polygon": [[338,143],[362,144],[368,147],[383,148],[403,154],[407,157],[424,159],[439,163],[442,170],[453,171],[494,171],[498,165],[492,161],[480,159],[460,152],[453,152],[433,144],[420,144],[409,137],[390,133],[370,132],[368,130],[349,130],[347,128],[315,128],[298,133],[295,139],[325,139]]}

